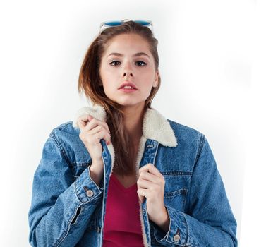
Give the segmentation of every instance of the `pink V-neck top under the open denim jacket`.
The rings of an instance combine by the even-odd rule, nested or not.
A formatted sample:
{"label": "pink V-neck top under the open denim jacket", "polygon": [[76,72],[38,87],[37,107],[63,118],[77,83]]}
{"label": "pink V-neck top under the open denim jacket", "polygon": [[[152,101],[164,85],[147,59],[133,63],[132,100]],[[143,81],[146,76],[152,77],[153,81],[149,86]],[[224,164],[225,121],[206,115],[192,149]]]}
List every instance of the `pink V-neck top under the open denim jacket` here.
{"label": "pink V-neck top under the open denim jacket", "polygon": [[143,247],[137,183],[129,188],[111,174],[104,219],[104,247]]}

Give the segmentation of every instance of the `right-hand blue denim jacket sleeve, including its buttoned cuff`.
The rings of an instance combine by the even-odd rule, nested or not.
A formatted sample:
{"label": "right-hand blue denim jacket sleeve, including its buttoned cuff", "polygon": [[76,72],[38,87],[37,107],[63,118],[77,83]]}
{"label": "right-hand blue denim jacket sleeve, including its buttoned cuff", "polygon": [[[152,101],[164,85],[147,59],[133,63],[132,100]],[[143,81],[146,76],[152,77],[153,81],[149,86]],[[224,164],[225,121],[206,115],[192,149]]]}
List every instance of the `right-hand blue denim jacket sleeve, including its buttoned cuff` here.
{"label": "right-hand blue denim jacket sleeve, including its buttoned cuff", "polygon": [[202,134],[187,200],[188,213],[165,205],[170,219],[167,234],[152,224],[159,243],[164,246],[237,246],[236,219],[212,150]]}

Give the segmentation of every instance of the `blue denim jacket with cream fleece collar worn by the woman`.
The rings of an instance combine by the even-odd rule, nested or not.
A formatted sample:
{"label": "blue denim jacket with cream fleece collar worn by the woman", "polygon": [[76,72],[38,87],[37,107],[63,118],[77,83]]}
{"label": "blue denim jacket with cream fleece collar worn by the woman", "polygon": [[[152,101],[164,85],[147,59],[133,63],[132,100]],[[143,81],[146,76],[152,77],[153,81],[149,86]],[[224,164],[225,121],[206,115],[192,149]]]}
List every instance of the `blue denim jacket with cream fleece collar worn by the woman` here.
{"label": "blue denim jacket with cream fleece collar worn by the woman", "polygon": [[[74,121],[54,128],[44,144],[28,215],[32,246],[102,246],[115,154],[100,140],[104,176],[97,186],[87,169],[90,154],[79,138],[82,114],[106,119],[99,105],[84,107]],[[146,201],[140,203],[143,246],[237,246],[236,219],[205,135],[147,109],[136,171],[148,163],[164,176],[170,224],[167,233],[162,231],[148,218]]]}

